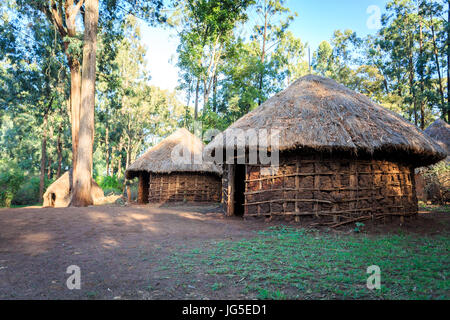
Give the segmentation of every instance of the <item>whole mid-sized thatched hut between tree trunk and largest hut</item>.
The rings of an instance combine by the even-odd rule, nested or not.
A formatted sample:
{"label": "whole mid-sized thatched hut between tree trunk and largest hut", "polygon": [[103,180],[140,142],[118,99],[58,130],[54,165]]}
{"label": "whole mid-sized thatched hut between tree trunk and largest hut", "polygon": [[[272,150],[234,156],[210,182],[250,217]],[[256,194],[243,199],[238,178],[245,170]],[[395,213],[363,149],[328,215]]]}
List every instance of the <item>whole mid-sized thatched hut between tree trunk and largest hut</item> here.
{"label": "whole mid-sized thatched hut between tree trunk and largest hut", "polygon": [[138,202],[220,202],[221,172],[202,161],[203,147],[178,129],[131,164],[126,176],[139,178]]}

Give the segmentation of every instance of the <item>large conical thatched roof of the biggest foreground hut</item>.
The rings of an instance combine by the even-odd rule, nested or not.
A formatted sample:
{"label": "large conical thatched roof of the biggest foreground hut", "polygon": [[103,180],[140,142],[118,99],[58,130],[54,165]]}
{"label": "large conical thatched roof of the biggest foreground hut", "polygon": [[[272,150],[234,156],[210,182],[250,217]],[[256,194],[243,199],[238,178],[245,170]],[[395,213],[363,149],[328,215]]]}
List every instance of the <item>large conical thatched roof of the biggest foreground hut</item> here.
{"label": "large conical thatched roof of the biggest foreground hut", "polygon": [[417,166],[445,157],[442,148],[401,116],[334,80],[315,75],[298,79],[237,120],[205,152],[233,149],[234,142],[226,141],[233,129],[279,130],[280,151],[376,153],[400,156]]}

